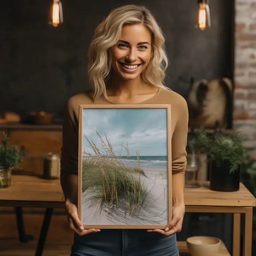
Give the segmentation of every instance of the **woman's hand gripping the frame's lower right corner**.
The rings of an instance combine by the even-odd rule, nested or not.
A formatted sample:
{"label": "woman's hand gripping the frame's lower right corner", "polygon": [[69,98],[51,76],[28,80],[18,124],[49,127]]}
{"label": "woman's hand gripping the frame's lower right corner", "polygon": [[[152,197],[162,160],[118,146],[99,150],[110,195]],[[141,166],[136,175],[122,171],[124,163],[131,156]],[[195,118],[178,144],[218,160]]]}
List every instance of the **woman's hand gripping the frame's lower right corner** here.
{"label": "woman's hand gripping the frame's lower right corner", "polygon": [[165,236],[182,231],[182,222],[185,214],[185,204],[172,207],[172,221],[164,230],[147,230],[148,232],[158,232]]}

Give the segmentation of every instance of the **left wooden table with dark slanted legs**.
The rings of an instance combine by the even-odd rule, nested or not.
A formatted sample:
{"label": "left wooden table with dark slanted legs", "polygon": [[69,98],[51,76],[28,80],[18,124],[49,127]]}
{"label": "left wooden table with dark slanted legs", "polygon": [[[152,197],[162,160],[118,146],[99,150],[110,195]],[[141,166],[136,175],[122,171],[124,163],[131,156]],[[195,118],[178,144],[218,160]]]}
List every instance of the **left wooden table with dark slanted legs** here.
{"label": "left wooden table with dark slanted legs", "polygon": [[53,210],[54,208],[64,208],[65,198],[59,179],[46,180],[39,176],[12,175],[11,186],[0,190],[0,206],[15,207],[20,242],[33,239],[33,236],[25,234],[22,207],[46,208],[35,253],[35,256],[41,256]]}

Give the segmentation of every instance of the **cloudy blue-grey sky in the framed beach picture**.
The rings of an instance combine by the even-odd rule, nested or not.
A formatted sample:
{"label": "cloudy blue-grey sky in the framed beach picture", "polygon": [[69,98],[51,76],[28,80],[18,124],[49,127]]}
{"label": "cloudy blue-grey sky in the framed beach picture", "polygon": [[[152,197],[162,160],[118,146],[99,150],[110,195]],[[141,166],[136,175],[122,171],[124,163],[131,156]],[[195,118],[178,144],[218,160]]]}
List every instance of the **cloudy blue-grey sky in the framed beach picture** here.
{"label": "cloudy blue-grey sky in the framed beach picture", "polygon": [[[130,156],[167,156],[167,110],[166,109],[84,109],[83,150],[92,153],[84,136],[98,148],[96,132],[108,137],[115,154],[120,155],[121,145],[129,145]],[[122,156],[126,156],[122,150]]]}

